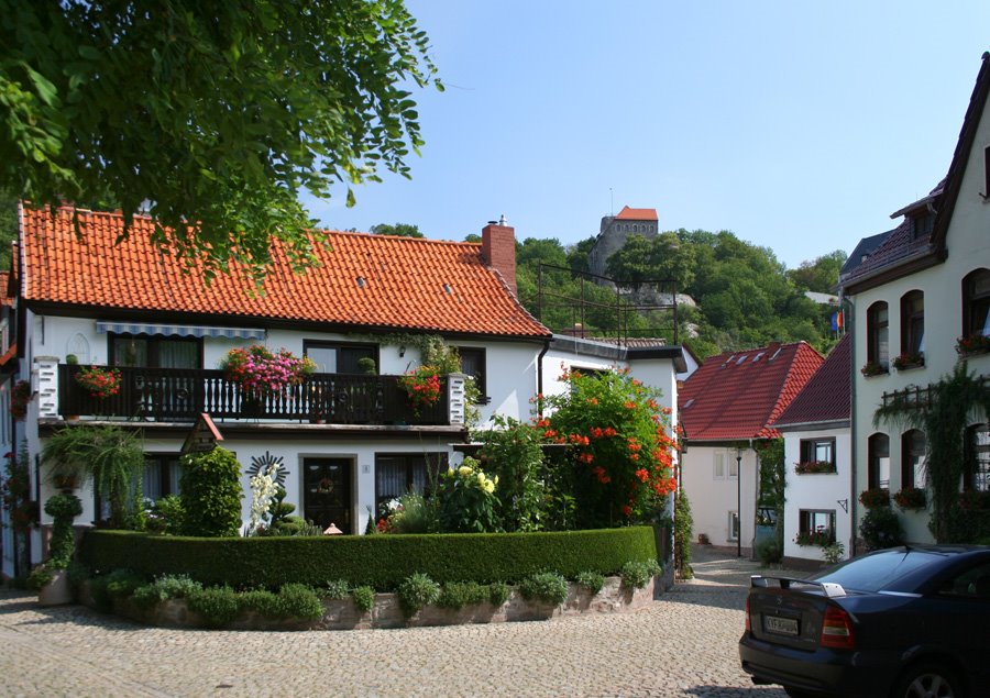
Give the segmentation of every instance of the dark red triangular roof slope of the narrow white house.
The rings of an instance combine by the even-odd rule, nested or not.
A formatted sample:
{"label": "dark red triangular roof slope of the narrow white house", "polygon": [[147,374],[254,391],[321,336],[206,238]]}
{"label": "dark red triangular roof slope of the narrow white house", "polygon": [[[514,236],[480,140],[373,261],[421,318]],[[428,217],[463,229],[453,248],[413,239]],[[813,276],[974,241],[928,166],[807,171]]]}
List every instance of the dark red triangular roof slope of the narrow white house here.
{"label": "dark red triangular roof slope of the narrow white house", "polygon": [[848,422],[853,396],[853,335],[844,336],[773,426]]}

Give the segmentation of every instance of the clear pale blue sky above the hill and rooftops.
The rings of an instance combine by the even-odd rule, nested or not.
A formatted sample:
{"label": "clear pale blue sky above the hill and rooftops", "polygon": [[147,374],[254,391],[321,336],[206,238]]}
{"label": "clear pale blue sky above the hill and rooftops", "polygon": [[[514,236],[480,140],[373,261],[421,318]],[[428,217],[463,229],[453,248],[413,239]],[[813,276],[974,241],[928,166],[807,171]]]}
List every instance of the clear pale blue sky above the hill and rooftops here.
{"label": "clear pale blue sky above the hill and rooftops", "polygon": [[788,268],[895,226],[945,176],[990,2],[406,0],[447,90],[411,179],[304,198],[324,228],[578,243],[624,206]]}

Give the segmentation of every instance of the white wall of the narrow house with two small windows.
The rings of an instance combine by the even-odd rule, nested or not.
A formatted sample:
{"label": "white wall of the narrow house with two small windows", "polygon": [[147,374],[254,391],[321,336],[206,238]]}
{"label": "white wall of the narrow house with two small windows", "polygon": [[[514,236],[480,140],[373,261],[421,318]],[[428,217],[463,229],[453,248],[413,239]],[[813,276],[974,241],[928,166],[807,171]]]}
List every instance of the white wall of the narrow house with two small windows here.
{"label": "white wall of the narrow house with two small windows", "polygon": [[[835,439],[835,473],[798,475],[794,464],[801,462],[801,441],[805,439]],[[849,491],[853,474],[853,435],[847,426],[833,430],[803,430],[784,433],[785,489],[784,497],[784,556],[804,559],[824,559],[822,549],[815,545],[798,545],[794,539],[801,530],[801,510],[834,511],[835,540],[846,550],[853,550],[853,519]],[[858,492],[857,492],[858,496]],[[840,502],[845,502],[845,508]]]}

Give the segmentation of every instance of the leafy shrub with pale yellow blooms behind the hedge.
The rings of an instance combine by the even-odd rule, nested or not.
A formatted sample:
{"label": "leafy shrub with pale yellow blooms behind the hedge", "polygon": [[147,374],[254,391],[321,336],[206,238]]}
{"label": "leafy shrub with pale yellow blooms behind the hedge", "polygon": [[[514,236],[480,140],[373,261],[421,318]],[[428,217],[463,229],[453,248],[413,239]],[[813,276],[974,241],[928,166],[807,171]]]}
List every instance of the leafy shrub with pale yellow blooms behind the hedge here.
{"label": "leafy shrub with pale yellow blooms behind the hedge", "polygon": [[490,479],[471,457],[464,458],[457,469],[443,473],[437,491],[441,529],[448,533],[497,531],[497,476]]}

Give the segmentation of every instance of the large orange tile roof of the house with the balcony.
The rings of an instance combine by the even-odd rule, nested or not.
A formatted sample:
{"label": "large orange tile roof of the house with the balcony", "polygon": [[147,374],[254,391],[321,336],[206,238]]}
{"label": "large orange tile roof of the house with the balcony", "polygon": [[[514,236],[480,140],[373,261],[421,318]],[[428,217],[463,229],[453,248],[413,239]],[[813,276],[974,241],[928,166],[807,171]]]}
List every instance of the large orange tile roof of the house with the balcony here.
{"label": "large orange tile roof of the house with the balcony", "polygon": [[279,245],[264,295],[252,295],[243,269],[218,275],[208,286],[185,274],[150,242],[153,224],[135,217],[130,237],[120,213],[24,208],[21,239],[26,301],[119,311],[167,311],[419,330],[443,333],[547,337],[549,330],[519,304],[502,277],[481,258],[479,243],[315,231],[330,250],[315,245],[321,266],[294,274]]}

